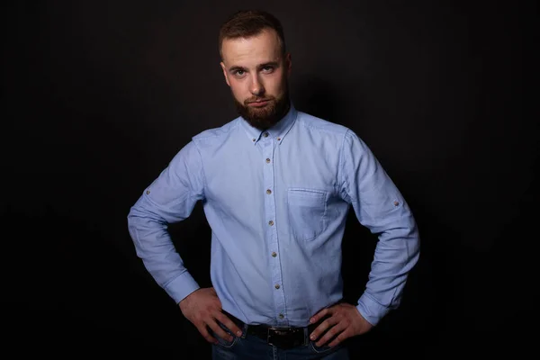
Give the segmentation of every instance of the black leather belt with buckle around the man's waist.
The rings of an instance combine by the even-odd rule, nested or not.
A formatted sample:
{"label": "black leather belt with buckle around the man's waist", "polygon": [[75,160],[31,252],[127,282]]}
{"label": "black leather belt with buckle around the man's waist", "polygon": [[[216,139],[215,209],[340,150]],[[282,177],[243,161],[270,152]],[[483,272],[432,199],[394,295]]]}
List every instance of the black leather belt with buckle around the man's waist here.
{"label": "black leather belt with buckle around the man's waist", "polygon": [[[248,325],[244,321],[239,320],[234,315],[223,311],[240,329],[246,329],[247,335],[253,335],[257,338],[262,338],[268,345],[281,348],[299,347],[309,344],[311,332],[316,329],[324,320],[321,319],[315,324],[310,324],[307,327],[273,327],[265,324]],[[326,319],[326,318],[325,318]]]}

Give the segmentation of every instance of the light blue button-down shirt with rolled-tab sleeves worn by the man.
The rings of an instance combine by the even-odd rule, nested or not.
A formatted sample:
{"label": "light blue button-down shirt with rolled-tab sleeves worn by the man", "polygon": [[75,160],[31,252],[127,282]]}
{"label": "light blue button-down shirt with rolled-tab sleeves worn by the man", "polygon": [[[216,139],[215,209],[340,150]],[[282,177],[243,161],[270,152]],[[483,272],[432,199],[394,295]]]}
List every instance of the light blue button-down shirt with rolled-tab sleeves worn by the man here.
{"label": "light blue button-down shirt with rolled-tab sleeves worn by the man", "polygon": [[379,238],[357,303],[365,320],[376,325],[399,305],[419,259],[410,208],[365,142],[293,106],[266,131],[238,117],[197,134],[130,209],[137,255],[175,302],[199,285],[167,223],[198,201],[211,227],[212,285],[223,310],[249,324],[306,326],[341,300],[351,206]]}

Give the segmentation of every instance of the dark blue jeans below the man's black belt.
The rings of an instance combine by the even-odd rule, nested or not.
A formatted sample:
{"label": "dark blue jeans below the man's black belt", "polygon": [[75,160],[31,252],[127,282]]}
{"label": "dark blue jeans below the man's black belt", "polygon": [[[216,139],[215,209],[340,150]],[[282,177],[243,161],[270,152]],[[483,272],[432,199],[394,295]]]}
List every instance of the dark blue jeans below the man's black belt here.
{"label": "dark blue jeans below the man's black belt", "polygon": [[291,349],[282,349],[268,345],[266,340],[257,338],[253,335],[247,335],[247,326],[242,329],[242,336],[236,337],[228,329],[227,333],[232,335],[232,341],[217,337],[219,344],[212,345],[212,360],[348,360],[347,347],[338,345],[338,347],[317,347],[306,334],[306,344]]}

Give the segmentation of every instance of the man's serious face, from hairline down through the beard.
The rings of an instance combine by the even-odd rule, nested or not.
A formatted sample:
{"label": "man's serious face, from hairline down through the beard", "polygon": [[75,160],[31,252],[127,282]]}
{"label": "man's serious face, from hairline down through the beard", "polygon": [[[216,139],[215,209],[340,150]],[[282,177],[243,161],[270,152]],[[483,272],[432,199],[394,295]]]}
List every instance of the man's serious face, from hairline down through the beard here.
{"label": "man's serious face, from hairline down through the beard", "polygon": [[287,78],[291,55],[283,55],[274,30],[249,38],[226,39],[220,63],[239,114],[251,126],[265,130],[289,110]]}

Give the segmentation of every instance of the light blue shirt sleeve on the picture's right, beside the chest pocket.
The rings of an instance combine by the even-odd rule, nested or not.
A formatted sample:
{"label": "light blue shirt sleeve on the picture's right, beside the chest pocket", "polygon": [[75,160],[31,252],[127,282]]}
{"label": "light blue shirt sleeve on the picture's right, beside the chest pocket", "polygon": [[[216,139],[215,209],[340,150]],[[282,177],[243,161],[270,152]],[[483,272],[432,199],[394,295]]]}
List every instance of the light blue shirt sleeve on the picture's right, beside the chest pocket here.
{"label": "light blue shirt sleeve on the picture's right, beside the chest pocket", "polygon": [[356,306],[365,320],[376,325],[401,302],[407,276],[419,259],[419,230],[392,179],[351,130],[344,138],[340,174],[342,197],[379,239],[365,292]]}

